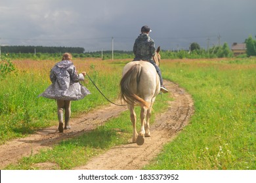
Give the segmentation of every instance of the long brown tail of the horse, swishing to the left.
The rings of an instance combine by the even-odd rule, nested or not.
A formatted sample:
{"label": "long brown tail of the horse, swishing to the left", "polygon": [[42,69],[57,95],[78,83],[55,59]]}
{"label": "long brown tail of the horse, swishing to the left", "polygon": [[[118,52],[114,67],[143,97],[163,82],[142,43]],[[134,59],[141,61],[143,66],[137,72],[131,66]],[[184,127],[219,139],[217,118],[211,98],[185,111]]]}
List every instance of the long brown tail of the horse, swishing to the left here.
{"label": "long brown tail of the horse, swishing to the left", "polygon": [[148,103],[144,101],[144,99],[140,98],[131,90],[131,85],[135,84],[138,86],[140,82],[140,72],[141,72],[141,65],[135,64],[123,75],[121,78],[120,87],[121,87],[121,99],[126,101],[127,103],[140,105],[142,107],[149,107]]}

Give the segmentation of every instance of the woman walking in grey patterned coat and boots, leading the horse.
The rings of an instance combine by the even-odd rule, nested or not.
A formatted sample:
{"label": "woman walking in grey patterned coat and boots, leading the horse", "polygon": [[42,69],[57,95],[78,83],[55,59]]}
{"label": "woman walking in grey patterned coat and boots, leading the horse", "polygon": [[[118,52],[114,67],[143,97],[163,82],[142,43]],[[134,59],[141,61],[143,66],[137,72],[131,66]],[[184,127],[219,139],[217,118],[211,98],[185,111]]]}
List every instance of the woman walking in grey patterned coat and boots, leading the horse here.
{"label": "woman walking in grey patterned coat and boots, leading the horse", "polygon": [[[39,96],[49,99],[55,99],[57,103],[58,114],[58,131],[70,129],[71,101],[83,99],[86,95],[91,94],[85,86],[81,86],[79,81],[85,80],[85,72],[77,74],[74,64],[72,63],[72,54],[65,53],[62,61],[56,63],[51,69],[50,79],[51,86]],[[64,128],[63,128],[63,116]]]}

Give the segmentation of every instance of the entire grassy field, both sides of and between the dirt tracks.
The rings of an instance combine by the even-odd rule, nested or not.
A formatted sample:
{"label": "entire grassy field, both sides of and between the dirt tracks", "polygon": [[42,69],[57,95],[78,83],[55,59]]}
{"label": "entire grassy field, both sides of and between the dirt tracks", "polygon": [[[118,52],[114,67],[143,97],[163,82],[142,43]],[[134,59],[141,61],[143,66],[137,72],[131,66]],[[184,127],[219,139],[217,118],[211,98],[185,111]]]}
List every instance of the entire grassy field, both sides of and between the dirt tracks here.
{"label": "entire grassy field, both sides of and between the dirt tracks", "polygon": [[[0,91],[0,118],[5,119],[0,123],[1,143],[57,121],[54,101],[37,98],[50,84],[54,61],[13,62],[16,73],[0,81],[5,86]],[[87,71],[110,99],[117,98],[125,61],[77,59],[74,63],[78,71]],[[144,169],[256,169],[256,59],[163,59],[161,71],[163,78],[177,82],[192,95],[195,114],[182,133]],[[107,103],[91,82],[84,84],[93,95],[72,103],[73,115]],[[164,110],[167,104],[162,104],[167,100],[171,99],[158,97],[154,112]],[[124,112],[95,131],[22,158],[7,169],[35,169],[34,163],[46,161],[58,164],[56,169],[82,165],[111,146],[127,142],[131,137],[127,119],[129,114]],[[104,141],[95,138],[99,134]]]}

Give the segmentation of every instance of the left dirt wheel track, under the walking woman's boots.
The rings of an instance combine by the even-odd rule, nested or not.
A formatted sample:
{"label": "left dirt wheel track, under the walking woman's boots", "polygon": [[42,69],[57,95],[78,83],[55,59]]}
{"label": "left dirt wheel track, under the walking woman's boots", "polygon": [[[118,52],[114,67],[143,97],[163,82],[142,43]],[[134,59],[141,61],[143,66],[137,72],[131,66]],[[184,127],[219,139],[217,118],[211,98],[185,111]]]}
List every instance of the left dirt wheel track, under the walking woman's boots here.
{"label": "left dirt wheel track, under the walking woman's boots", "polygon": [[14,139],[0,146],[0,169],[10,163],[16,163],[23,156],[36,154],[41,148],[51,148],[54,144],[73,137],[77,137],[85,131],[96,129],[110,118],[119,116],[127,107],[108,105],[95,109],[88,114],[81,114],[78,118],[72,118],[72,128],[58,132],[58,125],[47,127],[37,131],[33,135],[22,139]]}

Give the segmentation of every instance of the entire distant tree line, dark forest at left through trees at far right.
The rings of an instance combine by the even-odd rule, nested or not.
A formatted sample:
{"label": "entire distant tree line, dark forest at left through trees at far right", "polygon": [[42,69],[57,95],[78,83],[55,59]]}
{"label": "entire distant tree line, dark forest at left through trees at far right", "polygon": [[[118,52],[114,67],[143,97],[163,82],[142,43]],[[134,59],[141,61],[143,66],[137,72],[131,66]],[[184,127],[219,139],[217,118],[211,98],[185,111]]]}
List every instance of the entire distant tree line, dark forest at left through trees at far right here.
{"label": "entire distant tree line, dark forest at left through trees at far right", "polygon": [[[256,38],[256,37],[255,37]],[[250,35],[245,39],[246,54],[239,57],[256,56],[256,40]],[[64,52],[72,53],[74,58],[102,58],[112,59],[112,50],[85,52],[80,47],[60,47],[60,46],[1,46],[3,54],[9,54],[10,58],[33,58],[33,59],[49,59],[60,58]],[[213,46],[207,50],[200,48],[197,42],[190,44],[189,50],[161,50],[161,58],[166,59],[182,59],[182,58],[230,58],[234,54],[230,50],[228,44],[224,42],[221,46]],[[133,51],[114,50],[114,59],[134,58]]]}

